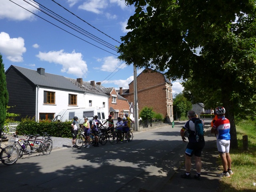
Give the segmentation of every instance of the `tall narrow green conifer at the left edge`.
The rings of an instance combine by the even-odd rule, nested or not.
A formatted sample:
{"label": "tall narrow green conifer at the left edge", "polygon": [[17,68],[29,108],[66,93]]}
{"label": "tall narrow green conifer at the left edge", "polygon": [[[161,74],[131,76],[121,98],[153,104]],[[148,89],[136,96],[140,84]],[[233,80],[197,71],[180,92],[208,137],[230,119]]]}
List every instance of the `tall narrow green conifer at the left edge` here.
{"label": "tall narrow green conifer at the left edge", "polygon": [[0,128],[2,128],[6,119],[6,106],[8,104],[9,96],[6,88],[6,76],[4,72],[4,64],[2,55],[0,54]]}

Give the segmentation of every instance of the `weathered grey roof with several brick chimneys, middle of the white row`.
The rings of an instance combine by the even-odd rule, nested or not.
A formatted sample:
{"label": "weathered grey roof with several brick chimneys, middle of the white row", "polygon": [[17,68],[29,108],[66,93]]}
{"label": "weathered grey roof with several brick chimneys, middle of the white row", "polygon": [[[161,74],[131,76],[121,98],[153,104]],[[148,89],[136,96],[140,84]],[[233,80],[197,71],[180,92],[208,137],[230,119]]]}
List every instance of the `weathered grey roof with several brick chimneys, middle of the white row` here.
{"label": "weathered grey roof with several brick chimneys, middle of the white row", "polygon": [[80,88],[80,90],[83,90],[84,92],[94,93],[94,94],[100,94],[106,96],[106,93],[100,88],[101,86],[95,84],[95,87],[93,87],[90,82],[83,81],[83,84],[79,84],[76,79],[72,79],[69,77],[65,77],[67,80],[72,82],[75,86]]}

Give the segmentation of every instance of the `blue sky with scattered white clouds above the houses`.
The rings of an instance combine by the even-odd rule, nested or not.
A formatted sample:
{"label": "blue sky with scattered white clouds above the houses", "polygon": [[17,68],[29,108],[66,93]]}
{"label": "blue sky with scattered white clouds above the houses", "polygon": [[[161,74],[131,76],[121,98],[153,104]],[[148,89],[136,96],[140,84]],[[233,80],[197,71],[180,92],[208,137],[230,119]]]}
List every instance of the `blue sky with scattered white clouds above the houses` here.
{"label": "blue sky with scattered white clouds above the houses", "polygon": [[[117,59],[115,46],[128,32],[134,10],[124,0],[1,0],[4,67],[45,68],[47,73],[94,80],[105,87],[129,88],[133,66]],[[58,20],[72,28],[44,12],[55,18],[58,14]],[[172,83],[173,94],[182,91],[179,82]]]}

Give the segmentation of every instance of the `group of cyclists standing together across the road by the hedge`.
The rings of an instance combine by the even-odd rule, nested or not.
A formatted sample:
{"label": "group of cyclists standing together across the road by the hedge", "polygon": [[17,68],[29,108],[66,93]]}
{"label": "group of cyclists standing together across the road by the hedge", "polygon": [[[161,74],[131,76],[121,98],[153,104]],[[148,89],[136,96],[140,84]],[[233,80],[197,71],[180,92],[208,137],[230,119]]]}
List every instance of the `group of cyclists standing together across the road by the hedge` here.
{"label": "group of cyclists standing together across the road by the hedge", "polygon": [[[78,117],[74,117],[74,121],[72,122],[71,126],[72,126],[72,145],[73,147],[76,147],[76,136],[78,134],[78,127],[77,127],[77,122]],[[130,124],[131,124],[131,119],[128,117],[128,114],[125,114],[124,118],[118,117],[117,118],[117,123],[116,123],[116,130],[118,133],[118,138],[120,140],[120,144],[123,143],[124,140],[124,134],[126,135],[126,142],[128,143],[128,132],[130,130]],[[90,148],[91,144],[90,144],[90,133],[92,131],[92,133],[95,136],[95,143],[93,144],[93,146],[98,147],[99,146],[99,142],[98,142],[98,132],[99,132],[99,128],[104,126],[104,124],[108,123],[108,127],[112,130],[114,130],[114,121],[112,119],[112,115],[108,116],[108,119],[102,124],[100,122],[100,120],[98,120],[98,116],[94,116],[94,118],[89,122],[88,121],[88,117],[84,117],[84,124],[82,125],[82,128],[84,128],[84,136],[87,138],[88,140],[88,145],[84,145],[84,147],[86,148]]]}

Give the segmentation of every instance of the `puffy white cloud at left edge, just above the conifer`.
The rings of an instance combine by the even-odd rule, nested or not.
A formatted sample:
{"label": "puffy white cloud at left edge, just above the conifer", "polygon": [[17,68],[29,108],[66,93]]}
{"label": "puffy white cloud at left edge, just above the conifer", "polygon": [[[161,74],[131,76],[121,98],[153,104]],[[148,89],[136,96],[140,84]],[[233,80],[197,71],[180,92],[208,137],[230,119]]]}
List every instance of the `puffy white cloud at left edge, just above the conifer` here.
{"label": "puffy white cloud at left edge, just above the conifer", "polygon": [[0,33],[0,52],[12,62],[22,62],[22,54],[26,52],[24,39],[21,37],[10,38],[8,33]]}

